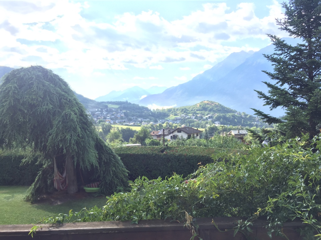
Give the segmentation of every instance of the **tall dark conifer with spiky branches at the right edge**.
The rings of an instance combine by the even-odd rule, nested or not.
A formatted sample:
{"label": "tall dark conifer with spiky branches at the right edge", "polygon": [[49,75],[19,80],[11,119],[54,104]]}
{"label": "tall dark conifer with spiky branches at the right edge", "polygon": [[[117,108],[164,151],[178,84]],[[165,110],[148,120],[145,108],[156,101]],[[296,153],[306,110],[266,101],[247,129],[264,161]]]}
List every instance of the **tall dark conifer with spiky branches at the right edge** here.
{"label": "tall dark conifer with spiky branches at the right edge", "polygon": [[276,118],[253,109],[268,124],[277,123],[287,136],[300,132],[317,135],[321,124],[321,1],[289,0],[283,2],[285,18],[277,19],[281,30],[302,43],[292,46],[268,34],[275,53],[264,55],[274,66],[265,72],[275,83],[264,82],[268,94],[256,91],[270,109],[282,107],[285,116]]}

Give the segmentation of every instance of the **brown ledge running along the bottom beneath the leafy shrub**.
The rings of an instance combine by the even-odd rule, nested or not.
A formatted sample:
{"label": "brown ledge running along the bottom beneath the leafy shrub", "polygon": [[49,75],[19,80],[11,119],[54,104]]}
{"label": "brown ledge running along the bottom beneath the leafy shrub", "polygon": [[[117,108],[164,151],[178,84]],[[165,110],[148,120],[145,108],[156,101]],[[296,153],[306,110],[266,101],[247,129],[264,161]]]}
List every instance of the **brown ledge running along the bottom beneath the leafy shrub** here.
{"label": "brown ledge running along the bottom beneath the leafy shrub", "polygon": [[[212,224],[212,218],[196,219],[199,225],[198,232],[204,240],[228,240],[245,239],[241,233],[233,238],[234,231],[225,231],[237,226],[238,218],[221,217],[213,218],[215,224],[224,232],[218,231]],[[252,236],[256,239],[267,240],[265,220],[256,220]],[[283,226],[283,231],[291,240],[298,240],[299,233],[296,231],[303,223],[288,222]],[[142,220],[138,224],[131,224],[130,221],[107,221],[107,222],[83,222],[66,223],[59,225],[48,225],[39,228],[36,234],[28,236],[32,225],[0,225],[0,239],[5,240],[27,240],[27,239],[59,239],[59,240],[82,240],[82,239],[113,239],[113,240],[160,240],[175,239],[189,240],[192,236],[190,230],[184,228],[183,223],[169,220]],[[195,238],[196,240],[197,238]],[[274,239],[284,239],[273,237]]]}

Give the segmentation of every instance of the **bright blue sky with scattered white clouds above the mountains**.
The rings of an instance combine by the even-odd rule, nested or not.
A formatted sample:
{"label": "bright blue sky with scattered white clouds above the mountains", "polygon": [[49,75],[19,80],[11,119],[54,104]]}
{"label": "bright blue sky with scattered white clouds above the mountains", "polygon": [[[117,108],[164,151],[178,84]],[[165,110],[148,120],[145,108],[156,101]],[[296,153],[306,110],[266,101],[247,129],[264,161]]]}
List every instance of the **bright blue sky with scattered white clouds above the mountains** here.
{"label": "bright blue sky with scattered white clouds above the mountains", "polygon": [[0,66],[41,65],[90,99],[176,86],[285,37],[282,2],[0,0]]}

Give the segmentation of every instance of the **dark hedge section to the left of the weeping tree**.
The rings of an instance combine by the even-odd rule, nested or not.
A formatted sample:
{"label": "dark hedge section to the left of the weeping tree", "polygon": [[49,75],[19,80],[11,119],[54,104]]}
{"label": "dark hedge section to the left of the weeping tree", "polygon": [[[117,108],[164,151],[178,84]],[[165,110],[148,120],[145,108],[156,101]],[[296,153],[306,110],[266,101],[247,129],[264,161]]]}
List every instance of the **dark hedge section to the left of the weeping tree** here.
{"label": "dark hedge section to the left of the weeping tree", "polygon": [[36,179],[40,166],[34,158],[31,163],[20,166],[24,155],[14,152],[0,152],[0,185],[30,186]]}

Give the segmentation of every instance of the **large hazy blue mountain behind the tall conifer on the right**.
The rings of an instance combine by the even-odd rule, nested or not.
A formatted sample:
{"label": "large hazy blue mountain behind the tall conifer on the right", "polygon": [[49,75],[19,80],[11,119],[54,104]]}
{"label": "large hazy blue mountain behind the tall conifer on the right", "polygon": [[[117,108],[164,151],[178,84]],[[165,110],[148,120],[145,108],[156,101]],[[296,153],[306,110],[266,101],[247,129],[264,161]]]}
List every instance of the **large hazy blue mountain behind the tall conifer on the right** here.
{"label": "large hazy blue mountain behind the tall conifer on the right", "polygon": [[[286,42],[295,45],[300,40],[285,38]],[[160,94],[149,95],[138,102],[143,106],[186,106],[205,99],[219,102],[240,112],[253,114],[250,108],[256,108],[273,116],[282,116],[283,109],[269,111],[263,106],[264,101],[257,97],[254,90],[267,93],[262,81],[270,78],[262,72],[273,72],[273,66],[263,54],[272,54],[274,46],[269,45],[258,52],[234,52],[213,68],[195,76],[192,80],[166,89]]]}

